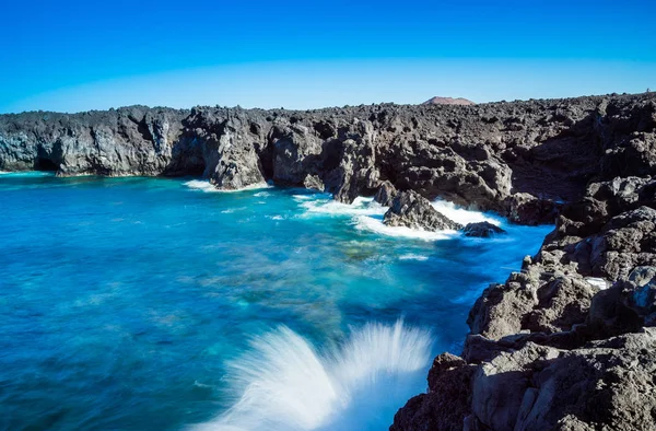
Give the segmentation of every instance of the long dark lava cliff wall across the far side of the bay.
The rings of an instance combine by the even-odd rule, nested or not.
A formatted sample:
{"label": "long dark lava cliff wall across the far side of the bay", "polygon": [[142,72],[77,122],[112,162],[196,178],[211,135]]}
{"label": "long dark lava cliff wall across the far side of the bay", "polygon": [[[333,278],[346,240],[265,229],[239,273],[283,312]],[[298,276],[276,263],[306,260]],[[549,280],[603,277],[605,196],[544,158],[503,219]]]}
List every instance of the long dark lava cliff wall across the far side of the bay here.
{"label": "long dark lava cliff wall across the far side of the bay", "polygon": [[343,202],[388,182],[518,223],[551,223],[591,180],[651,172],[655,101],[2,115],[0,170],[202,175],[229,189],[273,180],[324,188]]}

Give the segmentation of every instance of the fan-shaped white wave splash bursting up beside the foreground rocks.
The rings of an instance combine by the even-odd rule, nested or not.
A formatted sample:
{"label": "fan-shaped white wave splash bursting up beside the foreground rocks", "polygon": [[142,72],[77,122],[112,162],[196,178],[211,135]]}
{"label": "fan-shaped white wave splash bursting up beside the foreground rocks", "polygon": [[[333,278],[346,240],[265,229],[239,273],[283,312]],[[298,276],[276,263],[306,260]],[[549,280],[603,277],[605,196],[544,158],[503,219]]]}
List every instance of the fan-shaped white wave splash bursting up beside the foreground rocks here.
{"label": "fan-shaped white wave splash bursting up beside the foreground rocks", "polygon": [[318,350],[288,327],[254,338],[229,364],[237,400],[202,430],[379,430],[425,388],[427,330],[366,324]]}

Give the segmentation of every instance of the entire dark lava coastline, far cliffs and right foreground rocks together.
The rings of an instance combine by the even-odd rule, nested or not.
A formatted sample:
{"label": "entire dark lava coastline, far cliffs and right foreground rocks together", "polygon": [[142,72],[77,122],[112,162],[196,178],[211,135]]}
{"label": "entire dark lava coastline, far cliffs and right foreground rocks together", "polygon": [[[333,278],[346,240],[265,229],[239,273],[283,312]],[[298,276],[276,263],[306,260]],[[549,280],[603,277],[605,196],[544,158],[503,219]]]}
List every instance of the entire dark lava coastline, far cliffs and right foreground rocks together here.
{"label": "entire dark lava coastline, far cliffs and right foreground rocks together", "polygon": [[[460,229],[442,197],[553,223],[472,307],[460,356],[391,430],[656,429],[656,95],[291,112],[126,107],[0,116],[0,170],[272,180],[385,222]],[[433,212],[434,211],[434,212]],[[490,226],[471,232],[496,234]],[[467,228],[466,228],[467,229]]]}

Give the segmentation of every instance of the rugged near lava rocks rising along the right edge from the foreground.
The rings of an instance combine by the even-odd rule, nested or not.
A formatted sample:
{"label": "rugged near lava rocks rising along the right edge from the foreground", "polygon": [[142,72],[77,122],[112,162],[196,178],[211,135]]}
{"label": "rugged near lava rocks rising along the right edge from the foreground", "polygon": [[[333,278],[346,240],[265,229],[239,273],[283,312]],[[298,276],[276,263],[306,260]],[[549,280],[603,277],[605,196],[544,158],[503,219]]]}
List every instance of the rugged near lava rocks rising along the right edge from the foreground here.
{"label": "rugged near lava rocks rising along the right edge from the foreground", "polygon": [[595,125],[601,170],[558,202],[539,253],[471,308],[448,370],[469,381],[435,386],[429,375],[391,429],[656,429],[656,117],[645,106],[606,113]]}

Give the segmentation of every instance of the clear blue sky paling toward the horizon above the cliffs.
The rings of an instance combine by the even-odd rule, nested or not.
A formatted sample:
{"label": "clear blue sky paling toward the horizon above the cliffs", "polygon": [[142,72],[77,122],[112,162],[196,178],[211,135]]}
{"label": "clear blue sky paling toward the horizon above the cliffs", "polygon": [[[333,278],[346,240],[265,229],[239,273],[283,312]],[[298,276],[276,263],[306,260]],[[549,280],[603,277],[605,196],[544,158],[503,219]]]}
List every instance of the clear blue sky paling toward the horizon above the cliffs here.
{"label": "clear blue sky paling toward the horizon above the cliffs", "polygon": [[0,112],[642,92],[655,16],[654,0],[5,1]]}

